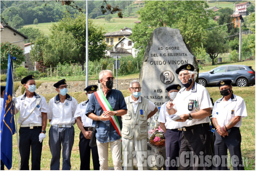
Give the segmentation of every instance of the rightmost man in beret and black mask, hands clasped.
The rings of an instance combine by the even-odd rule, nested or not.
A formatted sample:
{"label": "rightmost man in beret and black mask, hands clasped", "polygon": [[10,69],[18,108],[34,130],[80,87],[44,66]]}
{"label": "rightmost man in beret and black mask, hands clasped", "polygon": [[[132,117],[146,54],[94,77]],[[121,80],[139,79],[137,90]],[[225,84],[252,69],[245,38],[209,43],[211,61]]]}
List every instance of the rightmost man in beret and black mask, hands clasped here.
{"label": "rightmost man in beret and black mask, hands clasped", "polygon": [[214,103],[212,110],[212,122],[216,128],[214,134],[216,170],[227,170],[227,149],[229,149],[233,170],[244,170],[241,155],[241,133],[239,127],[242,117],[247,116],[246,103],[241,97],[234,95],[232,91],[232,80],[221,80],[216,85],[222,98]]}

